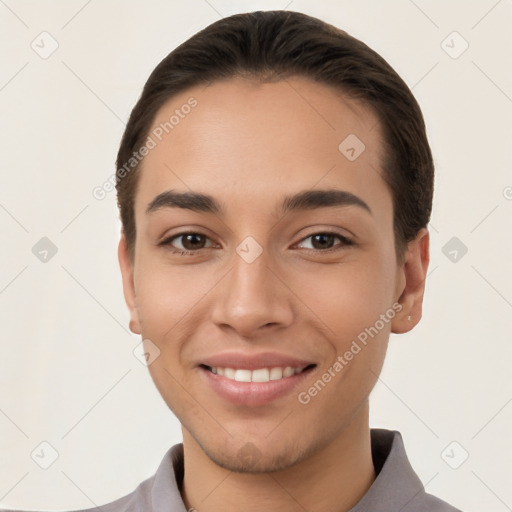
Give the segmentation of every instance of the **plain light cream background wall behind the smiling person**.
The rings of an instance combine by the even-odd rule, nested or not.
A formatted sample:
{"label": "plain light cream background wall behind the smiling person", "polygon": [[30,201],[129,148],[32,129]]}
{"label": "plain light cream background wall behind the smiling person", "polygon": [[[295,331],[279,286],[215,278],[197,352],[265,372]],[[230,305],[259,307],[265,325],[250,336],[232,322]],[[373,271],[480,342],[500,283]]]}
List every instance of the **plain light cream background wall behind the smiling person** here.
{"label": "plain light cream background wall behind the smiling person", "polygon": [[[133,354],[115,193],[92,190],[165,55],[220,16],[282,8],[381,53],[420,102],[435,155],[424,318],[392,337],[372,425],[402,432],[428,492],[512,509],[510,0],[0,0],[0,506],[105,504],[181,440]],[[52,39],[46,59],[31,47]],[[42,237],[57,247],[47,262],[32,252]],[[455,262],[452,237],[468,248]],[[48,469],[31,458],[43,441],[58,453]]]}

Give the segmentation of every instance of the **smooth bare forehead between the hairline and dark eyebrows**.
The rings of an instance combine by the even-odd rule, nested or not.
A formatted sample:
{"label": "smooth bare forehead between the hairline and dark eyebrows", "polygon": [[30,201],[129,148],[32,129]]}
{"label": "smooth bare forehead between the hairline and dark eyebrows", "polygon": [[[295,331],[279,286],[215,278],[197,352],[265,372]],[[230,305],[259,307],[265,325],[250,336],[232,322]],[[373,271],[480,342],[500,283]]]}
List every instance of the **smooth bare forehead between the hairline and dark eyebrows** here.
{"label": "smooth bare forehead between the hairline and dark eyebrows", "polygon": [[141,165],[136,216],[169,189],[205,192],[233,205],[258,198],[263,206],[264,198],[318,183],[367,202],[390,200],[383,197],[376,115],[308,79],[236,78],[190,88],[159,110],[148,135],[155,147]]}

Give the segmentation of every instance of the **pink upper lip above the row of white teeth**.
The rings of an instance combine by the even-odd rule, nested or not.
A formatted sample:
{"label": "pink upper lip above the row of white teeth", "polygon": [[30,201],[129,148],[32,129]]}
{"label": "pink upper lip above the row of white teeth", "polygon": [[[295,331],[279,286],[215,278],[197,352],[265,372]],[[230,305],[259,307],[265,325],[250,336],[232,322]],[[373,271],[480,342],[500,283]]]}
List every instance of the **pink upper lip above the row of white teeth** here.
{"label": "pink upper lip above the row of white teeth", "polygon": [[305,368],[315,363],[306,359],[299,359],[276,352],[262,352],[260,354],[223,352],[207,357],[206,359],[201,359],[199,364],[210,366],[211,368],[221,367],[255,370],[257,368],[285,368],[287,366],[291,366],[292,368]]}

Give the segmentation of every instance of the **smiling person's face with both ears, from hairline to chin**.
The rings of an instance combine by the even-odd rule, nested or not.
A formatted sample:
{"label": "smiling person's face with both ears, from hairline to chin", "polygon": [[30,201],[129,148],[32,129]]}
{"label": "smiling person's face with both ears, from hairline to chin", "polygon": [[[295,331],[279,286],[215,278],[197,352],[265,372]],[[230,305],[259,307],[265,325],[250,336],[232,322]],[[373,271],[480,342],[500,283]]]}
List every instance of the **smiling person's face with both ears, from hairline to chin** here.
{"label": "smiling person's face with both ears, from hairline to chin", "polygon": [[378,120],[327,86],[192,88],[151,132],[133,264],[119,245],[130,328],[211,460],[289,467],[343,435],[419,320],[428,234],[398,265]]}

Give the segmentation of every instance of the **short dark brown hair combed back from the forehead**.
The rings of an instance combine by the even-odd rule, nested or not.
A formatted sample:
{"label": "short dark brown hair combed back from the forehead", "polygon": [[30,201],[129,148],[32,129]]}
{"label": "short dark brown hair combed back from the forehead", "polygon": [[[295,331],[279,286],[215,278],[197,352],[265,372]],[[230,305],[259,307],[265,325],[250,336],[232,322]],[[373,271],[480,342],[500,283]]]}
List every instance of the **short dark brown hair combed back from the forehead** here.
{"label": "short dark brown hair combed back from the forehead", "polygon": [[[131,261],[135,255],[135,193],[140,148],[158,110],[172,96],[237,76],[276,81],[302,76],[370,106],[383,133],[384,179],[393,198],[397,259],[425,227],[432,209],[434,164],[418,103],[374,50],[333,25],[292,11],[257,11],[223,18],[174,49],[149,76],[126,125],[116,160],[117,204]],[[124,169],[123,169],[124,166]]]}

